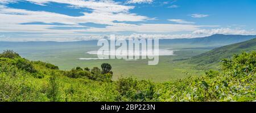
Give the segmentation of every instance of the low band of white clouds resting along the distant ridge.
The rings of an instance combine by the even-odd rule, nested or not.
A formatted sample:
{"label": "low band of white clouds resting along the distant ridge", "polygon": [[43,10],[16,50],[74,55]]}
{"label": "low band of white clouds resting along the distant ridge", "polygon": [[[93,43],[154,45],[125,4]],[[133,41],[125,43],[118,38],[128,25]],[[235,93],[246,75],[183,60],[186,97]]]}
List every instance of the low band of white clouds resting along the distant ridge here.
{"label": "low band of white clouds resting along the distant ridge", "polygon": [[[239,29],[229,29],[229,28],[220,28],[220,29],[199,29],[191,33],[183,34],[147,34],[147,33],[133,33],[130,35],[115,35],[116,39],[129,39],[129,38],[159,38],[159,39],[175,39],[175,38],[196,38],[196,37],[206,37],[211,36],[212,34],[251,34],[255,35],[255,31],[246,31]],[[64,36],[65,35],[65,36]],[[60,34],[49,33],[49,34],[26,34],[20,36],[40,36],[39,38],[12,38],[12,37],[0,37],[0,41],[84,41],[84,40],[99,40],[102,38],[110,39],[109,35],[105,34]]]}

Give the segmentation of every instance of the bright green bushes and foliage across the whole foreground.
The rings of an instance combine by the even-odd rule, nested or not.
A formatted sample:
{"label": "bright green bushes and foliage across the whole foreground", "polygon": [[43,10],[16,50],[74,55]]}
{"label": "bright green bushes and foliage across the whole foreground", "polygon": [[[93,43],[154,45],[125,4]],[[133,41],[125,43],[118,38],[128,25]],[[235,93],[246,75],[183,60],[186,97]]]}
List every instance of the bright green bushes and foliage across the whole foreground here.
{"label": "bright green bushes and foliage across the whole foreground", "polygon": [[256,101],[256,52],[234,55],[220,71],[170,82],[111,81],[109,64],[61,71],[13,51],[0,54],[0,101]]}

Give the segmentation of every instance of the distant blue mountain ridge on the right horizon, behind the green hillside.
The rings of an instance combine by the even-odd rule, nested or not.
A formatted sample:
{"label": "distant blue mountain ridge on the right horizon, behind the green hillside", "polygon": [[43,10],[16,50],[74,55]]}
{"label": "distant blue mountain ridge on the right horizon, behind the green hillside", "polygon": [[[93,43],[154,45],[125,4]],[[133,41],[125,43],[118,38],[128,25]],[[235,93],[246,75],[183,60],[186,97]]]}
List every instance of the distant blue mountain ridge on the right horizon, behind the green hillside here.
{"label": "distant blue mountain ridge on the right horizon, behind the green hillside", "polygon": [[160,44],[190,44],[207,46],[224,46],[243,42],[255,38],[255,35],[233,35],[233,34],[214,34],[201,38],[180,38],[160,40]]}

